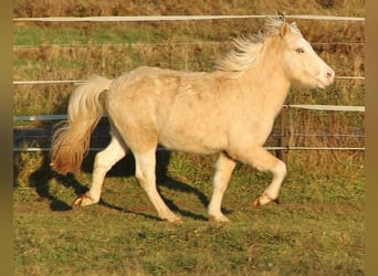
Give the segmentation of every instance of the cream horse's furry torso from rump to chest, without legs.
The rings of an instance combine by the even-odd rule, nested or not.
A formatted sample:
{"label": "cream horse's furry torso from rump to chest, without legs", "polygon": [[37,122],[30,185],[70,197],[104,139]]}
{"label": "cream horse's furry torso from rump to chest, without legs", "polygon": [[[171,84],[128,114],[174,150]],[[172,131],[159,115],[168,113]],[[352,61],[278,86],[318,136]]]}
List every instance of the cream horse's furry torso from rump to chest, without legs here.
{"label": "cream horse's furry torso from rump to chest, without legs", "polygon": [[[150,149],[158,140],[171,150],[195,153],[228,150],[232,156],[230,147],[243,145],[243,139],[249,145],[264,144],[284,96],[272,105],[251,94],[249,82],[229,78],[228,74],[139,67],[111,85],[106,109],[116,129],[133,132],[132,139],[138,140],[133,148]],[[119,84],[127,84],[127,92],[119,89]],[[267,91],[266,85],[260,87]],[[277,96],[264,94],[267,98]]]}

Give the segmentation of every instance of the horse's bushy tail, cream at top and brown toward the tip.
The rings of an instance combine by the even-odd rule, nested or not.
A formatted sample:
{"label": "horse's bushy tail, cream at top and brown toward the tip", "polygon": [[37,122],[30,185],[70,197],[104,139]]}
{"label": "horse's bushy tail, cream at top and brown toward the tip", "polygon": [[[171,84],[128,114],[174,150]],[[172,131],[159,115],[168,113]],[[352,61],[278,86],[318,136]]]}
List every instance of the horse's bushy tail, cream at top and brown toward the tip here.
{"label": "horse's bushy tail, cream at top and brown toward the tip", "polygon": [[66,174],[81,168],[90,150],[91,134],[104,113],[99,95],[112,82],[94,76],[71,95],[67,120],[57,125],[52,138],[51,167],[59,173]]}

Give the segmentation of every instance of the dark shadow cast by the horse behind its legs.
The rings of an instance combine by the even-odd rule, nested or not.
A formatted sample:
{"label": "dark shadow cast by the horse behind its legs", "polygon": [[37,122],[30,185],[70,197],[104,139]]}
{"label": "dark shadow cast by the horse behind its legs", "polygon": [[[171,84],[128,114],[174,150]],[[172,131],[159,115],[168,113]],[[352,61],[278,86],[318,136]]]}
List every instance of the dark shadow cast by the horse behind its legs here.
{"label": "dark shadow cast by the horse behind its legs", "polygon": [[[158,189],[159,187],[168,188],[169,190],[176,190],[178,192],[183,193],[192,193],[195,194],[201,204],[206,208],[209,204],[209,200],[207,195],[200,191],[199,189],[191,187],[187,183],[177,181],[168,176],[168,164],[170,160],[170,151],[167,150],[158,150],[157,151],[157,167],[156,167],[156,177],[157,177],[157,183]],[[82,170],[85,172],[92,172],[93,170],[93,162],[94,162],[94,153],[90,153],[83,162]],[[135,160],[133,155],[126,156],[123,160],[120,160],[118,163],[116,163],[112,170],[107,173],[107,176],[111,177],[134,177],[135,173]],[[40,199],[46,199],[50,201],[50,209],[52,211],[69,211],[72,210],[72,205],[67,204],[64,200],[60,199],[57,195],[53,194],[50,191],[50,181],[51,179],[55,179],[60,184],[67,189],[73,189],[74,193],[80,195],[87,191],[87,185],[82,184],[74,174],[69,173],[67,176],[60,176],[56,172],[54,172],[50,168],[50,156],[49,153],[43,155],[43,163],[42,166],[31,173],[29,180],[30,184],[35,189],[36,193],[39,194]],[[106,184],[106,183],[105,183]],[[141,189],[141,188],[140,188]],[[160,191],[159,191],[160,192]],[[193,213],[188,210],[180,209],[178,205],[175,204],[175,202],[170,199],[167,199],[164,197],[164,194],[160,192],[160,195],[162,197],[166,204],[175,212],[179,213],[182,216],[192,217],[195,220],[199,221],[206,221],[207,217],[201,214]],[[117,206],[113,204],[112,202],[106,202],[104,200],[101,200],[98,204],[102,204],[106,208],[117,210],[125,213],[134,213],[138,215],[143,215],[147,219],[157,220],[156,216],[146,214],[146,213],[136,213],[134,211],[126,210],[122,206]],[[224,211],[224,210],[223,210]],[[228,212],[225,210],[225,212]]]}

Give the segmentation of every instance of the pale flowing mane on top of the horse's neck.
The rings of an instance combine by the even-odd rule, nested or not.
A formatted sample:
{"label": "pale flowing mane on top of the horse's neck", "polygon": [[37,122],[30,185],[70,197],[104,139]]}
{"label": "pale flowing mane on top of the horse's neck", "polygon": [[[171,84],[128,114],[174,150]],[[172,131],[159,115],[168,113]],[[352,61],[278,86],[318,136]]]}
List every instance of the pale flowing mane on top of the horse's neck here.
{"label": "pale flowing mane on top of the horse's neck", "polygon": [[[232,49],[222,60],[217,62],[216,68],[228,72],[245,72],[255,62],[266,36],[280,34],[281,26],[285,23],[284,17],[269,17],[264,31],[248,36],[239,36],[232,41]],[[291,24],[292,31],[302,35],[295,23]]]}

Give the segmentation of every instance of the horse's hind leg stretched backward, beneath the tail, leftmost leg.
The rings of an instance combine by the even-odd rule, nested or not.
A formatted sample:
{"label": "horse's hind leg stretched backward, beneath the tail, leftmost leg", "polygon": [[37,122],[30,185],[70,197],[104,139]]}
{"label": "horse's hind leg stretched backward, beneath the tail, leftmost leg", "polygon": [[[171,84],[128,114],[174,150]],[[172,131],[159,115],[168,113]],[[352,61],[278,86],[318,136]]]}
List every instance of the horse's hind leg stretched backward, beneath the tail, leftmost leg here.
{"label": "horse's hind leg stretched backward, beneath the tail, leftmost leg", "polygon": [[112,132],[111,144],[95,157],[90,191],[80,195],[74,201],[74,205],[87,206],[99,201],[106,172],[125,157],[126,150],[127,148],[122,144],[120,138],[115,132]]}

